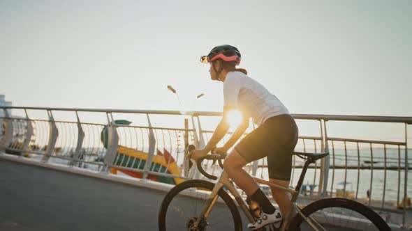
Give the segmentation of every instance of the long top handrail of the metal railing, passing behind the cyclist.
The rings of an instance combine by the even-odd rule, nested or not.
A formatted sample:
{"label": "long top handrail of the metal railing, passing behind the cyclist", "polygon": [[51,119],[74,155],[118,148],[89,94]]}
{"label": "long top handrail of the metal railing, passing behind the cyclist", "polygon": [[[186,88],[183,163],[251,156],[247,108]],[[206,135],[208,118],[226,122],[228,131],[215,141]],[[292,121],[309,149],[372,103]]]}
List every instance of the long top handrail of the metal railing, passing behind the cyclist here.
{"label": "long top handrail of the metal railing, passing behind the cyclist", "polygon": [[[124,110],[124,109],[71,109],[71,108],[48,108],[48,107],[24,107],[24,106],[0,106],[0,109],[27,109],[48,111],[83,111],[103,113],[144,113],[180,116],[221,116],[221,112],[213,111],[156,111],[156,110]],[[412,125],[412,117],[406,116],[334,116],[334,115],[304,115],[292,114],[298,120],[345,120],[363,122],[403,122]]]}

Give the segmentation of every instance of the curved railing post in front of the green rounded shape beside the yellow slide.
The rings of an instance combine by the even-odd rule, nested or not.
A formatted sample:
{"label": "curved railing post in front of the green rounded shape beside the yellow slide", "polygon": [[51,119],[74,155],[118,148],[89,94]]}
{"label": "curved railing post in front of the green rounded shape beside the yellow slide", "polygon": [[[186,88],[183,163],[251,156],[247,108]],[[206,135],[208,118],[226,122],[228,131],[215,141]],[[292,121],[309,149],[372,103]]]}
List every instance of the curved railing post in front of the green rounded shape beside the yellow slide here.
{"label": "curved railing post in front of the green rounded shape beside the yellow slide", "polygon": [[113,120],[112,113],[106,113],[106,116],[108,117],[108,152],[105,157],[105,168],[103,168],[103,173],[110,173],[110,167],[113,165],[117,155],[119,135],[117,134],[115,120]]}

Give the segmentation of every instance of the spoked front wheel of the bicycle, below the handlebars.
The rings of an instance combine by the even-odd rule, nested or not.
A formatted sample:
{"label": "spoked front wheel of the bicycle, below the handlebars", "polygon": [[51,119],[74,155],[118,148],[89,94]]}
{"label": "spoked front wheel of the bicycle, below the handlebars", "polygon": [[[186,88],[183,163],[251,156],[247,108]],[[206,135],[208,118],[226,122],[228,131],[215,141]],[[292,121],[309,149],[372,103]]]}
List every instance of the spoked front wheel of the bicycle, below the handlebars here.
{"label": "spoked front wheel of the bicycle, below the handlebars", "polygon": [[[188,180],[177,184],[165,196],[159,211],[159,230],[242,230],[239,210],[232,198],[221,189],[219,199],[207,219],[198,218],[214,184],[205,180]],[[193,223],[200,219],[199,227]]]}

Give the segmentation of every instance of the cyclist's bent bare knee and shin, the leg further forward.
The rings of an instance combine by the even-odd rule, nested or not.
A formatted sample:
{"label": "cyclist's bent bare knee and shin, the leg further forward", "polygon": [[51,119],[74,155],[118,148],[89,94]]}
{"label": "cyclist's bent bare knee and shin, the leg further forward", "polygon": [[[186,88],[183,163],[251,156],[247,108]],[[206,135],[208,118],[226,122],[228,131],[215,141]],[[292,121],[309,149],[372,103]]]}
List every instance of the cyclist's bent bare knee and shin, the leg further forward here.
{"label": "cyclist's bent bare knee and shin, the leg further forward", "polygon": [[230,152],[223,162],[223,167],[228,173],[230,179],[236,183],[247,195],[252,195],[259,187],[255,180],[243,170],[243,167],[247,165],[247,161],[236,152],[235,148]]}

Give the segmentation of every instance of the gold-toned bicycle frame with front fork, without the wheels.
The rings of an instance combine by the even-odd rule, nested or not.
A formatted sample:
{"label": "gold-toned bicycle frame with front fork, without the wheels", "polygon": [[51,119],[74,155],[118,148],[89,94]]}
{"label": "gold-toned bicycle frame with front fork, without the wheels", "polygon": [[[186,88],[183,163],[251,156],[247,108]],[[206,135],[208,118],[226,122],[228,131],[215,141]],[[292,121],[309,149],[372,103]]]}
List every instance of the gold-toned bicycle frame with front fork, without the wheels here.
{"label": "gold-toned bicycle frame with front fork, without the wheels", "polygon": [[[304,173],[302,172],[302,174],[304,174]],[[300,216],[302,216],[304,218],[304,221],[306,221],[311,226],[311,228],[314,228],[314,230],[318,231],[318,229],[316,228],[314,223],[316,225],[322,227],[313,218],[304,216],[304,214],[302,214],[302,212],[300,211],[300,207],[297,206],[296,201],[297,201],[297,198],[299,196],[300,186],[297,187],[298,191],[295,191],[295,189],[289,189],[289,188],[286,188],[285,186],[281,186],[279,184],[274,184],[272,182],[268,182],[268,181],[260,179],[258,177],[253,177],[253,179],[256,180],[256,182],[258,182],[260,184],[266,184],[267,186],[274,187],[274,188],[280,189],[282,191],[287,191],[288,193],[290,193],[292,195],[292,198],[290,200],[290,205],[288,207],[288,212],[286,213],[286,218],[284,219],[284,222],[281,225],[281,229],[280,229],[281,231],[284,231],[284,230],[286,230],[286,228],[288,228],[288,225],[290,223],[290,219],[292,218],[290,216],[290,212],[292,211],[292,209],[295,209],[297,211],[297,213],[300,214]],[[214,205],[216,204],[216,201],[219,198],[217,193],[219,192],[219,190],[221,190],[223,188],[223,186],[226,186],[226,188],[230,191],[230,193],[232,193],[232,195],[235,197],[235,200],[236,200],[237,204],[240,206],[240,209],[242,209],[242,211],[247,216],[249,221],[251,223],[253,223],[255,221],[255,218],[253,217],[253,215],[249,211],[249,207],[247,205],[247,202],[244,201],[244,199],[242,198],[240,193],[236,190],[235,185],[230,180],[230,178],[228,177],[228,173],[226,173],[225,170],[223,170],[223,172],[221,173],[221,176],[218,178],[218,180],[216,180],[216,184],[215,184],[215,186],[212,190],[212,193],[210,193],[210,196],[209,196],[209,198],[207,199],[207,201],[205,203],[205,207],[203,207],[202,212],[199,214],[198,217],[199,218],[207,218],[209,216],[209,213],[212,211],[212,208],[214,207]],[[198,219],[193,224],[193,228],[198,227],[198,224],[200,223],[200,221],[201,221],[201,219]],[[325,229],[323,229],[323,230],[325,230]]]}

